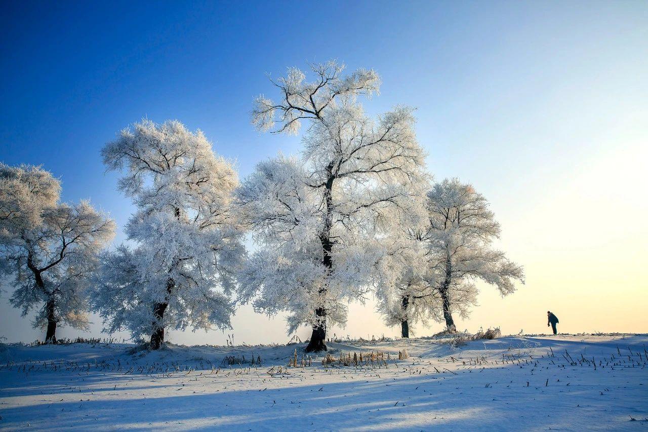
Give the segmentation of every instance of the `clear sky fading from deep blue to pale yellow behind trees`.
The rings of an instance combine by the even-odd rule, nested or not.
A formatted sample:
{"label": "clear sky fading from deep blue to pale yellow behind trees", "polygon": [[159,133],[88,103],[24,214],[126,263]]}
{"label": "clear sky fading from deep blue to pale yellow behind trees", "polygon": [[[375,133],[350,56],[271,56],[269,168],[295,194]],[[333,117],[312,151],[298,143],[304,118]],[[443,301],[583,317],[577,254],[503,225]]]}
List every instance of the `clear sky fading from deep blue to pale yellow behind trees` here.
{"label": "clear sky fading from deep blue to pale yellow behind trees", "polygon": [[[381,75],[368,112],[417,108],[430,172],[491,201],[498,246],[526,269],[526,285],[507,298],[480,285],[480,306],[457,327],[539,333],[550,309],[560,331],[648,332],[645,1],[5,2],[0,27],[0,161],[43,165],[64,200],[91,198],[120,227],[133,208],[99,150],[121,128],[179,119],[245,176],[299,149],[298,138],[249,123],[253,97],[272,94],[265,74],[337,58]],[[42,339],[8,295],[0,336]],[[281,317],[249,307],[233,325],[235,342],[289,338]],[[331,333],[399,329],[369,302],[351,305],[348,326]]]}

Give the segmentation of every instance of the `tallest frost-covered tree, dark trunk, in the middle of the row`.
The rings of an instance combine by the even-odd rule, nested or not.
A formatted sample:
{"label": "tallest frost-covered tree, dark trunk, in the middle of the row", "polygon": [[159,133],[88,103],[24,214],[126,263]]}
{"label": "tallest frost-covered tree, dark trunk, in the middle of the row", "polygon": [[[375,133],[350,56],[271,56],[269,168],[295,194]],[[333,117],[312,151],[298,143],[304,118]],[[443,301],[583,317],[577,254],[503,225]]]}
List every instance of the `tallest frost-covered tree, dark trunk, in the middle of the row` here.
{"label": "tallest frost-covered tree, dark trunk, in the middle of the row", "polygon": [[259,163],[238,193],[259,250],[241,277],[241,298],[270,315],[288,311],[288,330],[312,327],[307,351],[326,350],[327,325],[347,320],[345,300],[375,282],[377,237],[403,223],[422,184],[424,154],[412,110],[397,106],[372,120],[356,101],[378,91],[373,70],[343,75],[335,62],[274,80],[278,102],[259,96],[260,130],[296,134],[301,158]]}

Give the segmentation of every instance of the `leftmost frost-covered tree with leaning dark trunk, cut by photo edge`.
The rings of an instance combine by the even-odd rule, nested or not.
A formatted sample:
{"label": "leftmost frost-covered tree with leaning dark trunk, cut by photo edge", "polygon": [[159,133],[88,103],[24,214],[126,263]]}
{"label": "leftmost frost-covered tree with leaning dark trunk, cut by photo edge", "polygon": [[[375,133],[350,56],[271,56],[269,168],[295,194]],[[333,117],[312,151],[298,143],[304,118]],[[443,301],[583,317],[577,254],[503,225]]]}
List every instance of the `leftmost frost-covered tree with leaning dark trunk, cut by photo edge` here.
{"label": "leftmost frost-covered tree with leaning dark trunk, cut by photo edge", "polygon": [[85,290],[98,252],[115,235],[115,222],[87,201],[60,202],[60,181],[31,165],[0,163],[0,273],[12,278],[10,298],[23,317],[38,313],[34,328],[87,329]]}

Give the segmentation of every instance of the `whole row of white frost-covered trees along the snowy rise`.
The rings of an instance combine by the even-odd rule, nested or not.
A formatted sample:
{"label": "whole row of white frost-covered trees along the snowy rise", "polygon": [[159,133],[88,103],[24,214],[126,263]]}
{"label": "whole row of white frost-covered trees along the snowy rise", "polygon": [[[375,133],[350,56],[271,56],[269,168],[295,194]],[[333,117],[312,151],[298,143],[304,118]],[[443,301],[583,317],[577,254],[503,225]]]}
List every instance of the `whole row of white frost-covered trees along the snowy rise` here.
{"label": "whole row of white frost-covered trees along the snowy rise", "polygon": [[[115,222],[82,201],[60,202],[60,181],[41,167],[0,164],[0,272],[10,303],[34,328],[128,330],[157,349],[165,330],[231,328],[240,304],[286,312],[288,333],[310,326],[306,350],[326,350],[327,326],[373,295],[389,326],[467,317],[476,280],[502,295],[524,283],[522,267],[492,242],[500,225],[470,184],[434,182],[417,142],[413,110],[372,119],[359,99],[378,93],[373,70],[310,64],[272,80],[251,121],[299,134],[299,156],[259,162],[242,181],[209,140],[179,121],[125,128],[101,150],[135,213],[128,243],[108,247]],[[251,236],[256,247],[246,251]]]}

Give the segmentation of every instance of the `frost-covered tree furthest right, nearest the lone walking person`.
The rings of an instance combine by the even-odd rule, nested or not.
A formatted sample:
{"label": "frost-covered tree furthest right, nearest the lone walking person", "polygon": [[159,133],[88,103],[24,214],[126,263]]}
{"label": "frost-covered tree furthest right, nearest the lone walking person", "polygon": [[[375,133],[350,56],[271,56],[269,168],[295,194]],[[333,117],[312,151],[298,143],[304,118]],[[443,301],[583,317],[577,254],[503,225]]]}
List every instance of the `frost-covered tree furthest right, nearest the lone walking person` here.
{"label": "frost-covered tree furthest right, nearest the lone walking person", "polygon": [[[452,313],[466,317],[476,304],[476,280],[495,285],[505,296],[515,291],[516,280],[524,283],[524,270],[491,248],[500,236],[500,224],[488,201],[470,184],[456,178],[435,184],[428,193],[428,216],[430,223],[421,235],[428,247],[428,278],[432,293],[441,300],[447,330],[456,331]],[[438,302],[427,304],[433,313],[438,311]]]}

